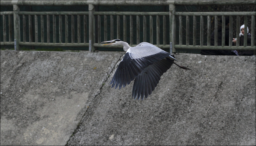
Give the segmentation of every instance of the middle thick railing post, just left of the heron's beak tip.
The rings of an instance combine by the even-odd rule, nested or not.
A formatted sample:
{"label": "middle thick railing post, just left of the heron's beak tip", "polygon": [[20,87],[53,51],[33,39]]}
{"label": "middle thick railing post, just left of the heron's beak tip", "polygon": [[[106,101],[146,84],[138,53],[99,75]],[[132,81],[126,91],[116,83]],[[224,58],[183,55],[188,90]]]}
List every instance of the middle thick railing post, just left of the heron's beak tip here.
{"label": "middle thick railing post, just left of the heron's beak tip", "polygon": [[89,4],[89,51],[95,51],[93,44],[95,43],[95,12],[94,5]]}

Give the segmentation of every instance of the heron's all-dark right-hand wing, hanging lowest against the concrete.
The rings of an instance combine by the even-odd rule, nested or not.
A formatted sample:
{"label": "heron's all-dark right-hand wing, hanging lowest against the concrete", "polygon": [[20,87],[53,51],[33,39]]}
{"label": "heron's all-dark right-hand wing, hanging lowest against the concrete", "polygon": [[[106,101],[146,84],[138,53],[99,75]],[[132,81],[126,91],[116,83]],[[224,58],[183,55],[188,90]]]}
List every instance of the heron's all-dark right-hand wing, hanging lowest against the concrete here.
{"label": "heron's all-dark right-hand wing, hanging lowest against the concrete", "polygon": [[166,72],[173,64],[169,58],[162,59],[146,67],[134,80],[133,98],[143,100],[155,90],[161,75]]}

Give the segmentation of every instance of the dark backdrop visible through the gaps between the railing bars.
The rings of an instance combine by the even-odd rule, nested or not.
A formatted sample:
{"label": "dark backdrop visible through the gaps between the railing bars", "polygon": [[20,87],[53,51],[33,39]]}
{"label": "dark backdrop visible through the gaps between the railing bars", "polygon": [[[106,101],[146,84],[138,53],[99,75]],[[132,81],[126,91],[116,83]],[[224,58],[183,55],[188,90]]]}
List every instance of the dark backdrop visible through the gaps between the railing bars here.
{"label": "dark backdrop visible through the gaps between the railing bars", "polygon": [[[13,11],[13,6],[1,6],[1,12],[5,12],[5,11]],[[59,12],[59,11],[67,11],[67,12],[88,12],[88,6],[20,6],[20,12],[23,11],[29,11],[29,12]],[[108,11],[115,11],[115,12],[169,12],[169,6],[95,6],[95,12],[108,12]],[[181,5],[177,5],[176,6],[176,12],[255,12],[255,5],[203,5],[203,6],[181,6]],[[25,15],[26,17],[26,29],[25,30],[29,30],[29,25],[28,25],[28,16]],[[52,20],[52,15],[49,16],[50,20]],[[71,16],[68,15],[68,23],[69,23],[69,29],[68,31],[71,32]],[[152,16],[153,17],[153,28],[156,28],[156,16]],[[204,35],[204,40],[203,43],[206,44],[207,43],[207,16],[203,16],[204,17],[204,27],[203,27],[203,35]],[[10,20],[13,26],[13,15],[10,15]],[[110,16],[107,16],[107,24],[108,24],[108,31],[110,31]],[[190,18],[190,22],[189,22],[189,44],[192,45],[193,44],[193,16],[189,16]],[[196,45],[200,44],[200,16],[196,17],[196,23],[197,23],[197,27],[196,27]],[[0,17],[1,22],[3,22],[3,17]],[[5,17],[6,22],[8,23],[8,15],[6,15]],[[62,21],[64,22],[65,17],[62,16]],[[87,18],[88,19],[88,18]],[[150,32],[149,32],[149,16],[146,16],[147,19],[147,38],[146,41],[150,42]],[[176,43],[175,44],[179,44],[179,17],[175,17],[176,19]],[[218,17],[218,19],[221,19],[221,17]],[[22,15],[20,15],[20,40],[21,42],[24,41],[23,38],[23,23],[22,23]],[[32,15],[32,28],[33,28],[33,36],[35,34],[35,30],[34,30],[34,16]],[[120,25],[121,25],[121,30],[120,32],[123,32],[123,21],[122,21],[122,16],[120,16]],[[169,26],[169,16],[166,16],[166,25]],[[214,16],[211,16],[211,32],[214,31]],[[240,17],[241,20],[241,25],[244,24],[244,18],[243,16]],[[38,22],[41,21],[40,15],[38,15]],[[58,15],[56,15],[56,23],[57,26],[59,24],[59,19],[58,19]],[[77,22],[77,15],[74,15],[74,21]],[[83,17],[81,17],[81,22],[83,22]],[[104,40],[104,29],[101,29],[101,40],[98,41],[98,36],[97,36],[97,23],[98,19],[97,16],[95,16],[95,42],[101,42],[101,41],[107,41],[110,40],[110,33],[108,32],[108,39]],[[137,44],[136,42],[136,16],[133,16],[133,40],[130,40],[130,33],[129,33],[129,22],[130,22],[130,17],[127,16],[127,42],[132,42],[132,44]],[[163,41],[163,31],[162,31],[162,26],[163,26],[163,18],[162,16],[160,16],[160,42],[162,44]],[[186,16],[182,16],[182,30],[183,32],[186,32]],[[219,22],[219,21],[218,21]],[[44,15],[44,42],[46,42],[47,40],[47,24],[46,24],[46,16]],[[77,28],[77,23],[74,23],[75,28]],[[82,24],[81,24],[82,25]],[[116,16],[114,16],[114,25],[117,25],[116,23]],[[87,26],[88,26],[88,21],[87,21]],[[38,25],[38,27],[40,27],[40,25]],[[221,23],[218,24],[218,27],[221,27]],[[249,28],[249,32],[251,33],[251,17],[248,17],[248,28]],[[255,27],[255,25],[253,26]],[[3,23],[0,24],[0,28],[1,28],[1,32],[3,31]],[[62,23],[62,42],[65,42],[65,23]],[[101,16],[101,28],[104,28],[104,17]],[[59,32],[59,28],[56,28],[56,32]],[[88,30],[89,28],[87,27],[87,32],[89,32]],[[114,27],[115,29],[115,27]],[[9,30],[8,25],[6,25],[6,31]],[[11,41],[13,41],[14,38],[14,30],[12,29],[12,32],[10,32],[10,38],[12,39]],[[52,21],[50,24],[50,31],[52,34]],[[81,27],[81,32],[83,32],[83,27]],[[117,35],[115,33],[116,31],[114,31],[114,38],[117,38]],[[169,38],[169,27],[166,27],[166,37]],[[77,36],[77,31],[74,31],[74,35]],[[26,32],[26,41],[29,42],[29,32]],[[156,34],[156,29],[153,29],[153,34],[155,37]],[[254,33],[255,34],[255,33]],[[38,31],[38,42],[41,42],[41,32]],[[183,33],[183,40],[182,40],[182,44],[186,44],[186,33]],[[7,40],[9,41],[9,33],[7,33]],[[236,38],[236,17],[233,17],[233,38]],[[33,37],[33,41],[34,41],[34,37]],[[87,33],[87,39],[88,39],[88,33]],[[121,40],[123,40],[123,35],[120,35]],[[52,42],[53,40],[53,36],[50,36],[50,42]],[[68,40],[69,42],[71,42],[71,34],[69,34],[68,36]],[[84,38],[83,35],[81,35],[81,42],[83,42]],[[153,39],[153,44],[156,44],[156,39]],[[3,41],[3,35],[1,33],[1,41]],[[74,37],[74,42],[76,43],[77,37]],[[143,16],[140,16],[140,42],[143,42],[145,40],[143,40]],[[59,42],[59,35],[56,35],[56,42]],[[166,39],[166,44],[169,44],[169,39]],[[13,46],[1,46],[1,48],[13,48]],[[26,46],[26,48],[41,48],[41,46],[37,46],[37,47],[31,47],[31,46]],[[88,50],[88,47],[62,47],[63,49],[68,49],[68,50]],[[97,50],[109,50],[106,48],[97,48]],[[111,50],[117,50],[117,51],[122,51],[122,49],[120,48],[111,48]],[[166,50],[168,51],[168,49]],[[177,50],[177,52],[182,52],[182,53],[200,53],[200,50],[193,50],[193,49],[179,49]]]}

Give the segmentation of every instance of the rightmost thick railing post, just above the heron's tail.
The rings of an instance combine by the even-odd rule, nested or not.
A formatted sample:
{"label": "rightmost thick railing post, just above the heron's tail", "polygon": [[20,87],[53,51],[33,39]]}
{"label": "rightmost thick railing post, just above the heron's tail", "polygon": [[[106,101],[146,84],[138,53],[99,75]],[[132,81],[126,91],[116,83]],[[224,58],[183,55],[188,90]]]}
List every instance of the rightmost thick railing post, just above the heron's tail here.
{"label": "rightmost thick railing post, just above the heron's tail", "polygon": [[175,45],[175,5],[174,1],[169,1],[169,21],[170,21],[170,53],[176,53]]}

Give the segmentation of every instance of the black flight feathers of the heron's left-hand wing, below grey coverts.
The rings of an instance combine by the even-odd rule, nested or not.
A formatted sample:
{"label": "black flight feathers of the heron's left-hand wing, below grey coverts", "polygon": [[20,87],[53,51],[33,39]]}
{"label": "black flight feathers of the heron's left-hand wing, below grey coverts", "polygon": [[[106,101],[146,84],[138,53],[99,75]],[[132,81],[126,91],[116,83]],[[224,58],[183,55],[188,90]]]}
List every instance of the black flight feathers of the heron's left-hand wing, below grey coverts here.
{"label": "black flight feathers of the heron's left-hand wing, below grey coverts", "polygon": [[[168,57],[169,55],[170,53],[162,50],[161,52],[141,57],[141,55],[133,54],[132,52],[127,51],[122,61],[118,65],[110,84],[113,83],[112,87],[115,86],[115,88],[117,88],[119,86],[119,89],[121,89],[122,86],[125,87],[126,85],[129,85],[131,81],[133,81],[134,78],[149,65],[152,65],[155,62]],[[145,78],[143,79],[145,80]],[[144,88],[142,90],[144,91]]]}

